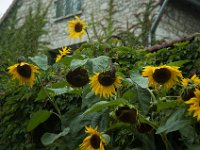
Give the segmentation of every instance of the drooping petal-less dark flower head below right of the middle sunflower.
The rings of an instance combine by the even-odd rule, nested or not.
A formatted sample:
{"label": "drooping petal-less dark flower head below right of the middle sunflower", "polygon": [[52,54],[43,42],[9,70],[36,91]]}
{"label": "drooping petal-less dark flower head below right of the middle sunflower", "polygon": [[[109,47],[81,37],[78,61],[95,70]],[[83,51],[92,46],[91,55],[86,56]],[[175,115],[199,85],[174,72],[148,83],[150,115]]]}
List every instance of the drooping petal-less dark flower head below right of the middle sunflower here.
{"label": "drooping petal-less dark flower head below right of the middle sunflower", "polygon": [[138,113],[134,108],[129,108],[128,106],[119,107],[115,115],[122,122],[137,123]]}

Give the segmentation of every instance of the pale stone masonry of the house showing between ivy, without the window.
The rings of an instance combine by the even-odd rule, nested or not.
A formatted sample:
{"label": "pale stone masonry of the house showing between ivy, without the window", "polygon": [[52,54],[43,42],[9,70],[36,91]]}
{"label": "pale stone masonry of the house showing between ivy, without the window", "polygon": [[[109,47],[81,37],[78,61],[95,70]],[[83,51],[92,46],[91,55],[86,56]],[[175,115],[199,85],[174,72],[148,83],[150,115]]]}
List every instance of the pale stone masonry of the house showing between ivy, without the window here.
{"label": "pale stone masonry of the house showing between ivy, without the window", "polygon": [[[40,0],[42,2],[42,7],[45,8],[49,0]],[[155,0],[158,1],[158,0]],[[37,6],[38,0],[19,0],[18,5],[18,17],[21,18],[21,22],[23,22],[23,18],[28,14],[29,7],[33,7],[33,10]],[[105,18],[107,16],[106,10],[108,10],[108,0],[82,0],[82,11],[78,12],[77,14],[72,14],[68,18],[62,18],[57,19],[55,18],[56,15],[56,6],[55,6],[55,0],[53,0],[49,12],[47,15],[48,23],[46,24],[45,28],[48,30],[48,35],[44,35],[41,37],[41,40],[50,42],[49,47],[51,49],[60,48],[66,45],[73,45],[76,43],[87,41],[87,35],[83,37],[82,40],[74,40],[67,38],[67,32],[66,32],[66,26],[69,20],[74,19],[74,15],[78,15],[81,19],[85,19],[86,22],[91,23],[92,21],[92,15],[94,16],[95,21],[100,21],[103,24]],[[114,9],[117,11],[114,14],[114,18],[116,20],[115,26],[120,27],[122,30],[124,30],[127,26],[135,24],[137,22],[137,19],[135,15],[139,12],[142,12],[144,10],[144,5],[142,3],[148,2],[148,0],[114,0]],[[159,9],[159,8],[158,8]],[[157,9],[157,10],[158,10]],[[169,10],[169,9],[168,9]],[[170,13],[173,17],[179,16],[180,13],[182,14],[181,18],[178,18],[179,22],[175,21],[167,17],[168,14],[164,15],[163,19],[161,20],[158,29],[157,29],[157,37],[158,38],[174,38],[175,36],[180,36],[184,34],[188,34],[194,31],[199,30],[199,20],[192,18],[190,15],[187,15],[187,13],[180,12],[176,9],[171,9]],[[175,14],[175,15],[174,15]],[[185,20],[187,20],[187,30],[182,29],[182,25],[185,25]],[[194,22],[194,23],[193,23]],[[191,28],[191,24],[195,24],[197,28]],[[177,29],[178,34],[174,32],[174,29]],[[173,29],[173,30],[172,30]],[[93,35],[92,27],[88,28],[88,32],[90,35]],[[99,34],[102,33],[100,29],[98,30]]]}

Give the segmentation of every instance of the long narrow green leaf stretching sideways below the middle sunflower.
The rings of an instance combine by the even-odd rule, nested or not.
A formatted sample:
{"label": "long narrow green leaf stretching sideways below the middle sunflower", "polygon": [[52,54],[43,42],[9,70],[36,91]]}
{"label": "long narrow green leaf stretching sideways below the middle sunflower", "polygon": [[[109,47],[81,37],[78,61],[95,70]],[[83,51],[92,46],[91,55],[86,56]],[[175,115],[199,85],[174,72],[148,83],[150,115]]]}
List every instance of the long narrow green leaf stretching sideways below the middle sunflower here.
{"label": "long narrow green leaf stretching sideways below the middle sunflower", "polygon": [[117,105],[120,105],[120,104],[128,104],[127,100],[125,99],[117,99],[117,100],[112,100],[112,101],[100,101],[100,102],[97,102],[95,103],[93,106],[91,106],[90,108],[88,108],[84,114],[89,114],[89,113],[92,113],[92,112],[97,112],[97,111],[101,111],[102,109],[106,108],[106,107],[109,107],[109,106],[117,106]]}

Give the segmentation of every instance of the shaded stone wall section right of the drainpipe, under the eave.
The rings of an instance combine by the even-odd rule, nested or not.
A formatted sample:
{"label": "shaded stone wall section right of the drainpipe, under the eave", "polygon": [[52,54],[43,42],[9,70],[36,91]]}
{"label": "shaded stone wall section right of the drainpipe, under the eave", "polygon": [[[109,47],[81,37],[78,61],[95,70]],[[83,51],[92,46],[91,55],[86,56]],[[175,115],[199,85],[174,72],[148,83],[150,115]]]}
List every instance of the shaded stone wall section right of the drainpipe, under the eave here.
{"label": "shaded stone wall section right of the drainpipe, under the eave", "polygon": [[200,32],[198,14],[189,4],[169,3],[158,26],[157,36],[174,39]]}

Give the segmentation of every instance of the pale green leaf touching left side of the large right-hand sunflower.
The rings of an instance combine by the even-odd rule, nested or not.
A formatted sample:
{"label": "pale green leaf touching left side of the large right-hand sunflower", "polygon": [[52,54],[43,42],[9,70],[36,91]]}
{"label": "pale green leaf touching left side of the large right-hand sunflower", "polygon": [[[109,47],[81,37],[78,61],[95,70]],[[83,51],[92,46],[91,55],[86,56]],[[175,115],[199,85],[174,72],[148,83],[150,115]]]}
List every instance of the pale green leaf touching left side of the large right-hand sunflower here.
{"label": "pale green leaf touching left side of the large right-hand sunflower", "polygon": [[138,73],[131,72],[130,78],[133,82],[137,83],[142,88],[148,88],[147,78],[142,77]]}

